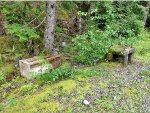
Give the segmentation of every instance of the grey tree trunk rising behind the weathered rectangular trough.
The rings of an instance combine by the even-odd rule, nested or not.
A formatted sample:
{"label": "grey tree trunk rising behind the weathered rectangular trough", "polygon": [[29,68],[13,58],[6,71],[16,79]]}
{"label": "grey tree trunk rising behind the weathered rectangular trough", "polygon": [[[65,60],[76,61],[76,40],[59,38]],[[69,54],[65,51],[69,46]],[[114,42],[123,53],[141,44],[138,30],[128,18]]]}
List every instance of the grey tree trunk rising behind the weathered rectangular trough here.
{"label": "grey tree trunk rising behind the weathered rectangular trough", "polygon": [[53,53],[56,1],[46,1],[45,47]]}

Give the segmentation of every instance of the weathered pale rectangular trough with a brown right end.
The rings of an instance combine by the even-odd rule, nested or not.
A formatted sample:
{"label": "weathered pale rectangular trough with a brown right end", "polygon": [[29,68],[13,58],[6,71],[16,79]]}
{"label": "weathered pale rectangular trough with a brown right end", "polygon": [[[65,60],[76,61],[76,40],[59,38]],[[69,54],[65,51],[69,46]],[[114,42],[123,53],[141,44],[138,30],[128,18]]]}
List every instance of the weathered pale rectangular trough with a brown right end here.
{"label": "weathered pale rectangular trough with a brown right end", "polygon": [[44,57],[42,59],[33,57],[19,60],[21,76],[28,79],[30,79],[32,76],[46,73],[50,68],[57,68],[60,65],[60,56]]}

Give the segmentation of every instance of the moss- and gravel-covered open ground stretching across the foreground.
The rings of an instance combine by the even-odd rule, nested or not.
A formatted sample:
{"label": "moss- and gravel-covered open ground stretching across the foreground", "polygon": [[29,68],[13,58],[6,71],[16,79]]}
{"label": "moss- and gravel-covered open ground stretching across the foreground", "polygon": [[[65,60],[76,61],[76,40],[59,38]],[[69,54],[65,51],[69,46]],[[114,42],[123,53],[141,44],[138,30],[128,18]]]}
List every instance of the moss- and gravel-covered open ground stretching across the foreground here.
{"label": "moss- and gravel-covered open ground stretching across the foreground", "polygon": [[[79,68],[73,79],[39,85],[18,77],[0,87],[1,113],[150,112],[150,38],[135,46],[135,61]],[[68,65],[65,64],[65,65]],[[86,99],[90,106],[82,102]]]}

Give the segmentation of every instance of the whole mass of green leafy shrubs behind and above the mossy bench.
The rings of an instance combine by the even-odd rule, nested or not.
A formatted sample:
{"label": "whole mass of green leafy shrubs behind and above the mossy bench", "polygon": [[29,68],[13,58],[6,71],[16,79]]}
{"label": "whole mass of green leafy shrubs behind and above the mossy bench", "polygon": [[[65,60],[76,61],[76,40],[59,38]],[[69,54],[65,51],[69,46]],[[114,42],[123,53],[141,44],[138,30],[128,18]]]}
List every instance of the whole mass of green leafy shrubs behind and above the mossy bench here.
{"label": "whole mass of green leafy shrubs behind and above the mossy bench", "polygon": [[95,64],[105,58],[112,45],[133,46],[144,31],[144,12],[137,11],[144,11],[138,2],[107,1],[95,2],[88,13],[78,12],[86,18],[89,28],[73,39],[75,62]]}

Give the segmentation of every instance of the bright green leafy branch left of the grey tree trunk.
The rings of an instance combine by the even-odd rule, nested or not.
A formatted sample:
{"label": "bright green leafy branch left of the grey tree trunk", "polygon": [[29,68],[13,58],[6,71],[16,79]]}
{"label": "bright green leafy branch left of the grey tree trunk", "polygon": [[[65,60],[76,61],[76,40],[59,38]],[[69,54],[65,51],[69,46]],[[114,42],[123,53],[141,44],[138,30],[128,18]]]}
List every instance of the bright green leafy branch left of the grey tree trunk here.
{"label": "bright green leafy branch left of the grey tree trunk", "polygon": [[34,40],[39,37],[34,29],[17,23],[8,25],[6,28],[9,35],[19,38],[21,42],[27,42],[28,40]]}

